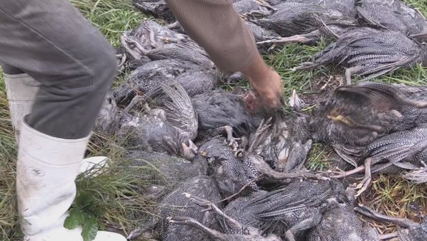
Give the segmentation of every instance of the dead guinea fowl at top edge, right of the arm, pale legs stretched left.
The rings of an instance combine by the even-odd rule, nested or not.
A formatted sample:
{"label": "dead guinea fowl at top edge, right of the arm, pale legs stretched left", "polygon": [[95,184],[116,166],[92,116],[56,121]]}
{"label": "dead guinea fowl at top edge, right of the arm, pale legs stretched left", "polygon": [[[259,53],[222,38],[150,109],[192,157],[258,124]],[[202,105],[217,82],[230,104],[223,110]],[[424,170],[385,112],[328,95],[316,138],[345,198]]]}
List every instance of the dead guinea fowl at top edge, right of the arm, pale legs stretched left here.
{"label": "dead guinea fowl at top edge, right of the arm, pale legs stretched left", "polygon": [[[265,43],[309,43],[322,35],[333,36],[342,34],[347,28],[357,26],[355,6],[352,0],[338,4],[337,2],[324,2],[313,4],[305,2],[285,2],[274,6],[276,11],[263,19],[249,21],[260,25],[267,30],[273,30],[280,37],[268,38],[258,41],[258,45]],[[331,25],[331,27],[329,27]]]}

